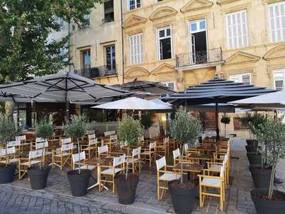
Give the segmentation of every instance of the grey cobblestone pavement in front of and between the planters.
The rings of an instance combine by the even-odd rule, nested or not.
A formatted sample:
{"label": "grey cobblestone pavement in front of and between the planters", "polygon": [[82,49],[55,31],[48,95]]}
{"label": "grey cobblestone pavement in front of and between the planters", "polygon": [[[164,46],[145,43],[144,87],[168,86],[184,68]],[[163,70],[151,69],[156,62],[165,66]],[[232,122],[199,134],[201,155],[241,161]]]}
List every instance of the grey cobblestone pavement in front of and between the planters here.
{"label": "grey cobblestone pavement in front of and between the planters", "polygon": [[[244,146],[245,141],[243,139],[232,139],[230,172],[232,184],[227,189],[225,213],[256,214],[250,197],[250,190],[254,186],[249,173],[249,163]],[[285,161],[281,161],[281,164],[279,164],[278,173],[283,179],[285,177],[284,163]],[[27,178],[15,180],[11,184],[0,185],[0,213],[3,211],[9,213],[10,210],[16,213],[174,213],[169,193],[165,193],[162,200],[157,200],[155,168],[142,170],[135,203],[128,206],[120,205],[118,196],[113,195],[110,190],[103,190],[99,193],[98,188],[90,190],[84,197],[72,197],[66,178],[67,171],[67,168],[64,171],[51,170],[47,187],[44,190],[31,190]],[[90,184],[93,184],[93,182]],[[284,185],[278,185],[276,188],[285,190]],[[3,194],[8,196],[3,196]],[[10,199],[7,200],[6,198],[9,197]],[[21,202],[21,198],[26,197],[28,199],[23,199]],[[40,200],[37,200],[37,198]],[[38,210],[35,201],[39,201],[41,208],[50,210]],[[20,208],[19,204],[24,208]],[[30,209],[33,211],[30,211]],[[199,200],[195,199],[193,214],[198,213],[220,214],[222,212],[219,211],[216,198],[207,198],[204,208],[199,208]]]}

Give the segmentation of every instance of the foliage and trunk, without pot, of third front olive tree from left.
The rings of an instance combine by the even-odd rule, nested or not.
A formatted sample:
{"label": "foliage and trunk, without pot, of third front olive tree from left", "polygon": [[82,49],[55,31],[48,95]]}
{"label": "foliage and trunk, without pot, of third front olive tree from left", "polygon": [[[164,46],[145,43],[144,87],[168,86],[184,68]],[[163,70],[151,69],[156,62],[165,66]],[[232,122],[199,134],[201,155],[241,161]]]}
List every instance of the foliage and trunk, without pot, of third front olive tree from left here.
{"label": "foliage and trunk, without pot, of third front olive tree from left", "polygon": [[77,148],[78,148],[78,169],[79,174],[81,173],[81,161],[80,161],[80,153],[81,153],[81,147],[79,143],[79,138],[82,138],[86,135],[87,132],[87,123],[86,123],[86,116],[84,115],[72,115],[71,120],[66,119],[66,126],[63,128],[64,133],[66,133],[66,136],[70,138],[76,138],[77,139]]}

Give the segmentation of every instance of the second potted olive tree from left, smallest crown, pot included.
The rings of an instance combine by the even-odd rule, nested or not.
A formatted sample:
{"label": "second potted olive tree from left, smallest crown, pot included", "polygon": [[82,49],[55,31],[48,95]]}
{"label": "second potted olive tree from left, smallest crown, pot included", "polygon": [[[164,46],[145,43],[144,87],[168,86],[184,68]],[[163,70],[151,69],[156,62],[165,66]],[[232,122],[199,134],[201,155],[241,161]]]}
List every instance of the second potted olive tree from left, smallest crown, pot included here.
{"label": "second potted olive tree from left, smallest crown, pot included", "polygon": [[28,178],[30,178],[31,188],[33,190],[40,190],[46,188],[46,180],[51,170],[50,165],[43,165],[43,156],[45,155],[45,142],[53,136],[53,125],[46,119],[36,123],[35,136],[44,139],[43,147],[41,148],[41,163],[40,165],[33,165],[28,168],[27,173]]}

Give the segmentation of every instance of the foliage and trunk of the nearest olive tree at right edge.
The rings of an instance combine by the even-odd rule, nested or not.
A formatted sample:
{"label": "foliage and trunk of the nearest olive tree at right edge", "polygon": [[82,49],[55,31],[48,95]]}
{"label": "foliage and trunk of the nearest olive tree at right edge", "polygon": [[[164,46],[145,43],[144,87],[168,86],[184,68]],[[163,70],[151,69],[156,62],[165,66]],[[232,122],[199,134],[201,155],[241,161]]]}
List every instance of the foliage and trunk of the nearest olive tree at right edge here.
{"label": "foliage and trunk of the nearest olive tree at right edge", "polygon": [[259,141],[259,152],[261,153],[262,168],[271,168],[271,181],[269,185],[269,199],[271,199],[274,188],[274,173],[280,158],[285,157],[285,123],[283,117],[277,120],[267,118],[257,127],[252,126],[254,135]]}

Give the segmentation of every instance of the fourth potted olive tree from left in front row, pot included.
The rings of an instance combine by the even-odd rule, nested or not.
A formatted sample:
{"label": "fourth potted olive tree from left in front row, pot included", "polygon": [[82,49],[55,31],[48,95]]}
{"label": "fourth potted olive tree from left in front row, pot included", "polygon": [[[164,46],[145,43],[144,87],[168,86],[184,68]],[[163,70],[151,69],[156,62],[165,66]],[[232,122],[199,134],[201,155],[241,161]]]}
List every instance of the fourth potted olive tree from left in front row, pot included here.
{"label": "fourth potted olive tree from left in front row, pot included", "polygon": [[[122,143],[123,146],[127,146],[127,158],[130,156],[130,146],[138,142],[138,138],[142,136],[142,130],[140,121],[135,120],[131,116],[127,116],[124,121],[120,122],[118,136],[120,143]],[[134,202],[138,177],[138,173],[128,173],[127,162],[125,175],[120,174],[115,178],[119,203],[127,205]]]}

